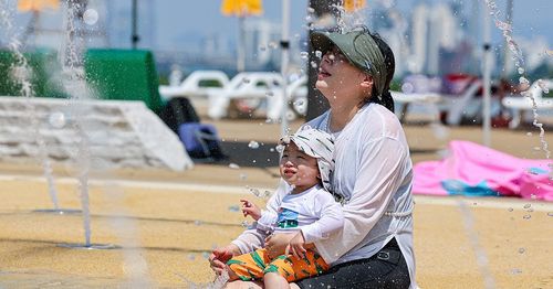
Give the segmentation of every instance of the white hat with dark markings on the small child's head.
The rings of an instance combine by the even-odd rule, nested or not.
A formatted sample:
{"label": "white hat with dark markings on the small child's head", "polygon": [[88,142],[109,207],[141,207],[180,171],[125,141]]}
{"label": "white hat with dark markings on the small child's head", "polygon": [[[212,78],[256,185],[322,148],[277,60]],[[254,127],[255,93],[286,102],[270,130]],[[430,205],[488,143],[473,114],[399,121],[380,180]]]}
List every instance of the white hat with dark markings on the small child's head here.
{"label": "white hat with dark markings on the small child's head", "polygon": [[331,178],[334,171],[334,138],[322,130],[306,127],[292,136],[280,139],[280,144],[293,141],[305,154],[316,159],[324,189],[331,192]]}

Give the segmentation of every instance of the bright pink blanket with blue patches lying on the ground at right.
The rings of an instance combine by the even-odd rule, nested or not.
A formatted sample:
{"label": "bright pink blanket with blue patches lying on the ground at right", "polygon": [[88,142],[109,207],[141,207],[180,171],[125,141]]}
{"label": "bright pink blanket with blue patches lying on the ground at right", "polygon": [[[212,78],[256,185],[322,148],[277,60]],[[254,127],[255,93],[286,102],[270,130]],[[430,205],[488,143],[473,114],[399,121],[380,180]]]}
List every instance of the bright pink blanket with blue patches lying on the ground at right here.
{"label": "bright pink blanket with blue patches lying on the ground at right", "polygon": [[519,159],[470,142],[451,141],[449,157],[415,165],[413,193],[511,195],[553,201],[551,160]]}

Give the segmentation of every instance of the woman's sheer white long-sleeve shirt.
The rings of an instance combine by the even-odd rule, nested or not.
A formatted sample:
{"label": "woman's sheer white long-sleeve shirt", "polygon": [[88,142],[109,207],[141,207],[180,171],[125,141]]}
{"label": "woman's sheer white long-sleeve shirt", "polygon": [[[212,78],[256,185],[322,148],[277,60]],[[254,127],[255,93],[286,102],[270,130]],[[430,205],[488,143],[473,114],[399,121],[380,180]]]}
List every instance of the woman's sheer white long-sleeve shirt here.
{"label": "woman's sheer white long-sleeve shirt", "polygon": [[[327,132],[330,111],[306,125]],[[344,226],[314,244],[325,260],[337,265],[369,258],[396,238],[416,288],[413,250],[413,163],[397,117],[377,104],[366,104],[335,136],[333,192],[345,199]],[[254,231],[241,244],[260,246]],[[241,247],[242,249],[242,247]],[[242,250],[243,251],[243,250]]]}

